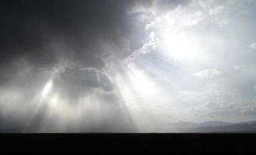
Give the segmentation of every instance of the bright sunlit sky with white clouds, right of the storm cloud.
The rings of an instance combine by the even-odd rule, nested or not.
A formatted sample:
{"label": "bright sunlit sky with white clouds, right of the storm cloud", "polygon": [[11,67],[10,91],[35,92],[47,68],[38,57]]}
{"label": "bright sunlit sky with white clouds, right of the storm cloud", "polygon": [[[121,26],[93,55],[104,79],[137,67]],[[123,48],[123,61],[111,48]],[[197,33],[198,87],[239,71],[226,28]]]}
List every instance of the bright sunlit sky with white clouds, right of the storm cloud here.
{"label": "bright sunlit sky with white clouds, right of the storm cloud", "polygon": [[[256,53],[249,52],[256,49],[255,4],[190,1],[170,12],[154,10],[145,24],[149,42],[129,63],[160,87],[162,95],[154,98],[169,121],[256,118]],[[153,100],[145,102],[151,106]]]}

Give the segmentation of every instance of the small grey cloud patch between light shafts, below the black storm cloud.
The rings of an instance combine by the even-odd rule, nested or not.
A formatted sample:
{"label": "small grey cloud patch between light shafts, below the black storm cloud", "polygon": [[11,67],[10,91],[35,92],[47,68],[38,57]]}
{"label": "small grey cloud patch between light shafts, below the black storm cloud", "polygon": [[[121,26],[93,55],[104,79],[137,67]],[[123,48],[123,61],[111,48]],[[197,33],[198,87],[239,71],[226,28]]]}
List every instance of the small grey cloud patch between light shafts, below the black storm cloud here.
{"label": "small grey cloud patch between light shafts, below the black storm cloud", "polygon": [[96,68],[68,67],[64,72],[56,75],[53,81],[55,91],[73,100],[88,93],[90,88],[113,90],[113,85],[106,74]]}

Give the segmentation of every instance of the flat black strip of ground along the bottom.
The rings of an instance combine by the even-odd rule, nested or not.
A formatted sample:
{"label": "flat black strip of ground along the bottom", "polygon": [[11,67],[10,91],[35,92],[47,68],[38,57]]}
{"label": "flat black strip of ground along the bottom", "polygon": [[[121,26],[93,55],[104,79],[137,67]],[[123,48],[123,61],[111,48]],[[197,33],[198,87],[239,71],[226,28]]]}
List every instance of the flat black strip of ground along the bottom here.
{"label": "flat black strip of ground along the bottom", "polygon": [[256,153],[255,133],[0,134],[10,153]]}

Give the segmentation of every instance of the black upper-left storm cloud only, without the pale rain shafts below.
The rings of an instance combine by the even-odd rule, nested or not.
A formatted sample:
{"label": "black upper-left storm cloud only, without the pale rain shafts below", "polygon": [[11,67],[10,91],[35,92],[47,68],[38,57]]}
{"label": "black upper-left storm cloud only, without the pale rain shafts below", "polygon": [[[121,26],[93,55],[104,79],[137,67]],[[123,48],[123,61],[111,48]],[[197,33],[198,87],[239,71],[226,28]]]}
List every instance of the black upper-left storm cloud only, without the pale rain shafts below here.
{"label": "black upper-left storm cloud only, without the pale rain shafts below", "polygon": [[[152,6],[155,2],[165,8],[177,3],[141,3]],[[101,58],[108,52],[127,57],[145,38],[144,25],[136,26],[127,15],[135,3],[138,1],[1,1],[0,80],[12,81],[18,72],[32,67],[34,71],[51,69],[61,60],[100,69],[104,66]]]}

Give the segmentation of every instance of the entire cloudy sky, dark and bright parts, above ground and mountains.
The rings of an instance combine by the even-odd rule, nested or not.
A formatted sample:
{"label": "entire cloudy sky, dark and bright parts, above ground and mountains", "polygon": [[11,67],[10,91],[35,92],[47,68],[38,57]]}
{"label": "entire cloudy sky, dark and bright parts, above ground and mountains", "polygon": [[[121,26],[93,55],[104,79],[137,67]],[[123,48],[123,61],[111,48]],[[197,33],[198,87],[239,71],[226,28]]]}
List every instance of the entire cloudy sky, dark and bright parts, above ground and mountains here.
{"label": "entire cloudy sky, dark and bright parts, above ground and mountains", "polygon": [[0,132],[256,119],[255,0],[0,2]]}

